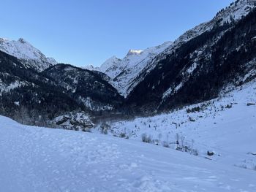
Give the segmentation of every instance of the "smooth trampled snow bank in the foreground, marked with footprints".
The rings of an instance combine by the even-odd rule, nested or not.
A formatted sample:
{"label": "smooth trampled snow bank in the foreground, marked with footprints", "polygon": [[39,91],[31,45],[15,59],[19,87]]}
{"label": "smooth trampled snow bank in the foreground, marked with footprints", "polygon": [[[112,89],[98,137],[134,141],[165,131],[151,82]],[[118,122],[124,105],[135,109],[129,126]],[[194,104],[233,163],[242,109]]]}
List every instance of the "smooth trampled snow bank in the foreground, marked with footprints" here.
{"label": "smooth trampled snow bank in the foreground, marked with footprints", "polygon": [[256,191],[254,171],[165,147],[0,123],[0,191]]}

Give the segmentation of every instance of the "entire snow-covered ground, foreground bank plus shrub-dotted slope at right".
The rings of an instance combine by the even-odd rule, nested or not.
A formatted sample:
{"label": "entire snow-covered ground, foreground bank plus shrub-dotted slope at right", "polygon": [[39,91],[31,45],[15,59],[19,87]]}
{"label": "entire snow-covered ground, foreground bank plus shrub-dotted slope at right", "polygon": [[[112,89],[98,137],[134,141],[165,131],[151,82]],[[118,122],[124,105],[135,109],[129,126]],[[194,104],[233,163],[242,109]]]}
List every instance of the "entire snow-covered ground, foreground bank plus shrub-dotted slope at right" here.
{"label": "entire snow-covered ground, foreground bank plus shrub-dotted slope at right", "polygon": [[0,191],[255,192],[255,93],[249,82],[176,112],[111,123],[116,137],[0,116]]}

